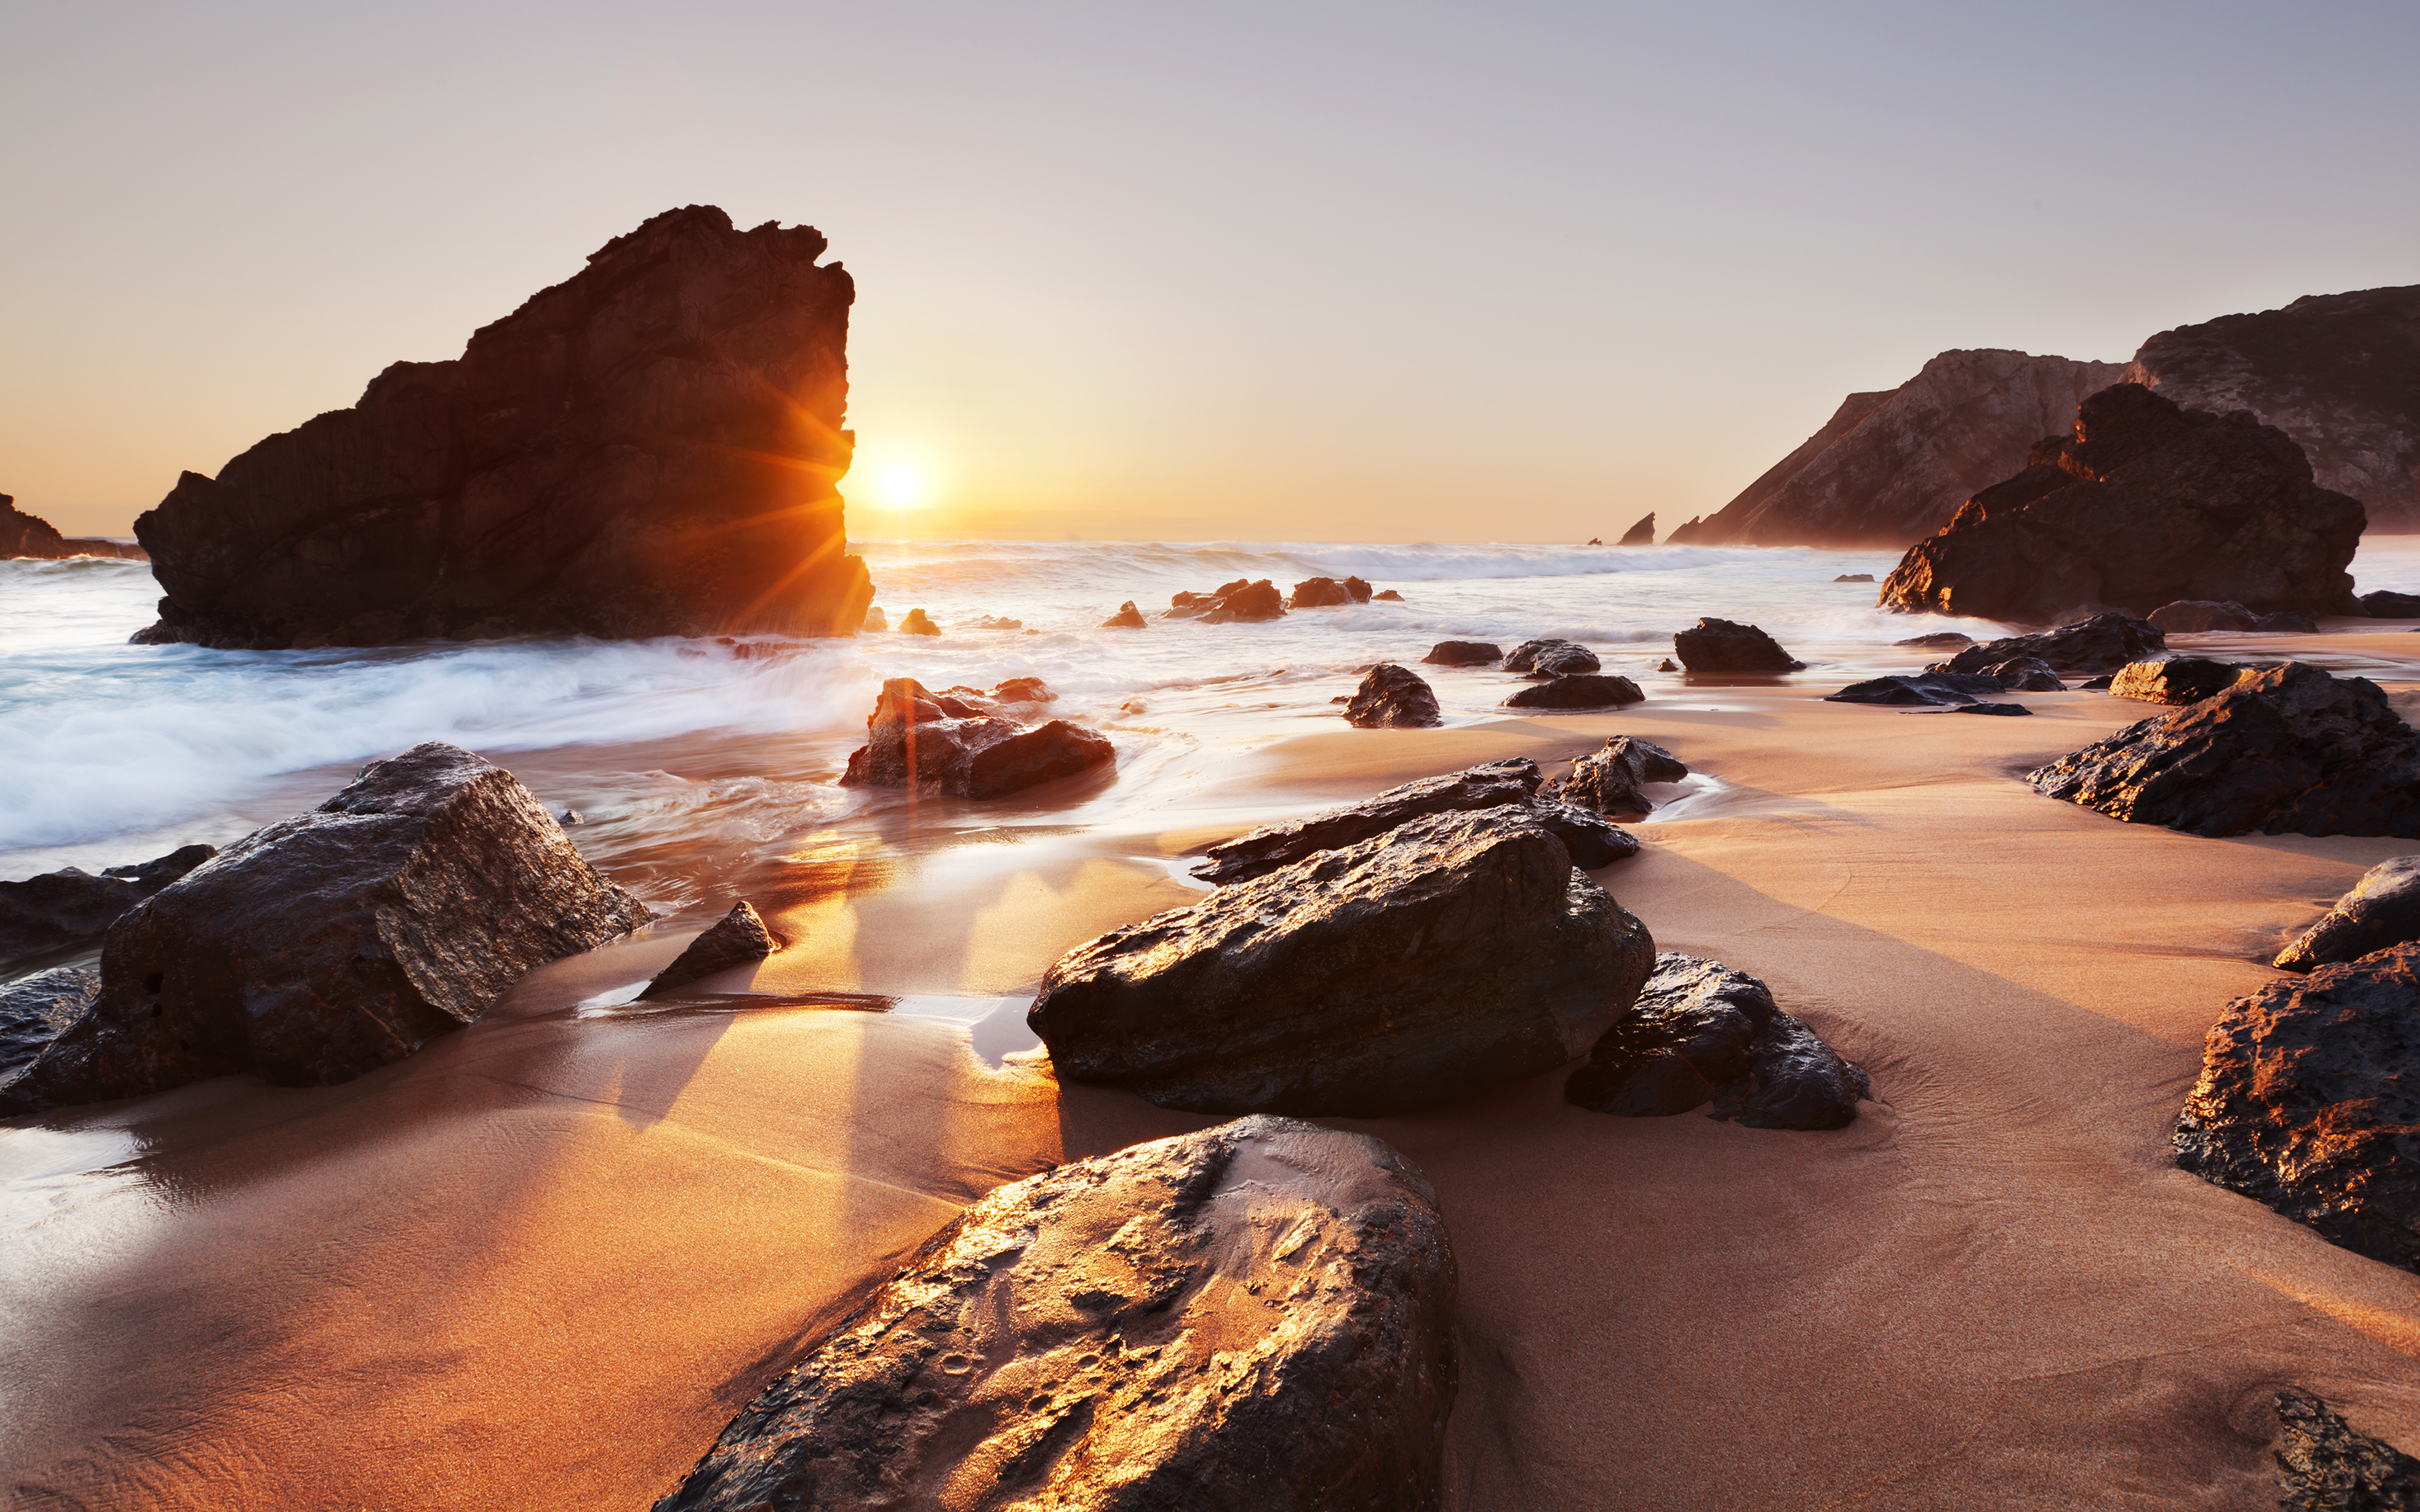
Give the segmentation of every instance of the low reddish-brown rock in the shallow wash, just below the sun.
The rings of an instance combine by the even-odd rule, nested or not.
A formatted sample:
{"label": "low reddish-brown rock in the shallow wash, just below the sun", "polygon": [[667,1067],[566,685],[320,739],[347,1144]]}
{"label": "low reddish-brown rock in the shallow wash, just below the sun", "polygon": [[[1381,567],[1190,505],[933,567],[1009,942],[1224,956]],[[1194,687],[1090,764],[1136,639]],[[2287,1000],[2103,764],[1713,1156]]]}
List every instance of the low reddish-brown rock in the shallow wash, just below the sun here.
{"label": "low reddish-brown rock in the shallow wash, just below the sun", "polygon": [[874,697],[866,743],[849,752],[840,786],[999,798],[1116,760],[1106,735],[1065,719],[1024,728],[987,704],[927,692],[915,677],[891,677]]}

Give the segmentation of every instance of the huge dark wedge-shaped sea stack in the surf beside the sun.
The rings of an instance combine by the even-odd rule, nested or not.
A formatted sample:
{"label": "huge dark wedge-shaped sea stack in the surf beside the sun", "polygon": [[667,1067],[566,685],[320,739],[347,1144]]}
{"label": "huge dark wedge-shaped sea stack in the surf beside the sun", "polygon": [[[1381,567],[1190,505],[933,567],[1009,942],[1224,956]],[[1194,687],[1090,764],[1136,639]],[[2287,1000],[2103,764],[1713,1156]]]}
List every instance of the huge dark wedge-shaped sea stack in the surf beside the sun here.
{"label": "huge dark wedge-shaped sea stack in the surf beside the sun", "polygon": [[136,520],[167,598],[140,641],[375,646],[520,631],[849,634],[854,285],[813,227],[711,206],[394,363]]}

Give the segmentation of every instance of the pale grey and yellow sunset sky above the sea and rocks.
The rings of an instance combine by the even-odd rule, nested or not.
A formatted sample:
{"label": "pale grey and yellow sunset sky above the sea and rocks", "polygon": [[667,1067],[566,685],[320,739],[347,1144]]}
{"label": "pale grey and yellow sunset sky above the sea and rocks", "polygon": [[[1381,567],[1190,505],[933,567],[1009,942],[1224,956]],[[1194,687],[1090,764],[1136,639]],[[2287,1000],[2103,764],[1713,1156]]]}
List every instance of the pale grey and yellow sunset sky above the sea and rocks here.
{"label": "pale grey and yellow sunset sky above the sea and rocks", "polygon": [[1670,527],[1943,348],[2420,283],[2415,77],[2408,2],[10,0],[0,494],[126,532],[714,203],[857,276],[854,535]]}

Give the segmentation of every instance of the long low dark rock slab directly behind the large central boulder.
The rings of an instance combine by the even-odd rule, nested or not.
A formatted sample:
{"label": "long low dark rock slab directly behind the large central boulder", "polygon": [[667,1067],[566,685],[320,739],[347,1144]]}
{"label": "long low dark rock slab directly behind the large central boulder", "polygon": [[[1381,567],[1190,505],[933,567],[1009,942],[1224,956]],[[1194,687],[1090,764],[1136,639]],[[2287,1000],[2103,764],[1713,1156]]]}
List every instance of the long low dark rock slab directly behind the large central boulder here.
{"label": "long low dark rock slab directly behind the large central boulder", "polygon": [[1423,777],[1421,781],[1387,789],[1367,803],[1331,808],[1307,820],[1263,825],[1249,835],[1212,844],[1203,852],[1203,861],[1193,868],[1193,876],[1217,885],[1244,883],[1319,852],[1341,852],[1348,844],[1387,835],[1418,818],[1476,813],[1481,808],[1527,808],[1534,823],[1563,842],[1571,864],[1588,871],[1638,854],[1638,842],[1624,830],[1571,803],[1539,798],[1542,784],[1544,777],[1529,757],[1508,757],[1469,767],[1467,772]]}

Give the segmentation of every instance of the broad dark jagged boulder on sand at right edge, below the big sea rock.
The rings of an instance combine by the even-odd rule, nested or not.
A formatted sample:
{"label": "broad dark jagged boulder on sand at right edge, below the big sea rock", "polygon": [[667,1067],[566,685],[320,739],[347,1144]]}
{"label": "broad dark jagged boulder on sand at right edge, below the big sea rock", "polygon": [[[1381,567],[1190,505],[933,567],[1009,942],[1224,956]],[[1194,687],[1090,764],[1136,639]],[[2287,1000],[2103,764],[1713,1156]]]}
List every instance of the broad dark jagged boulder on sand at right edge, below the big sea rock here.
{"label": "broad dark jagged boulder on sand at right edge, below the big sea rock", "polygon": [[2299,660],[2132,723],[2026,781],[2193,835],[2420,837],[2420,735],[2376,682]]}

